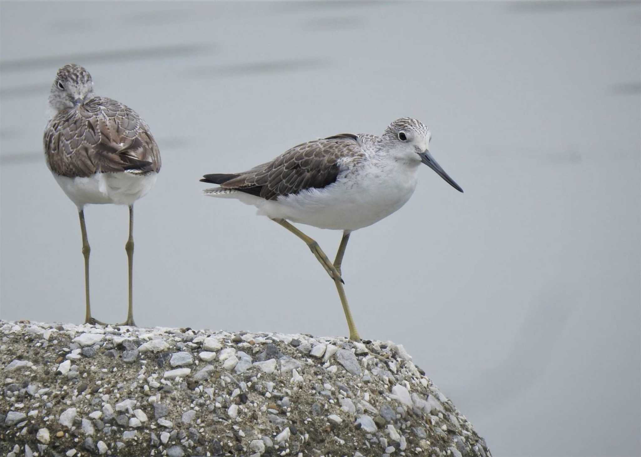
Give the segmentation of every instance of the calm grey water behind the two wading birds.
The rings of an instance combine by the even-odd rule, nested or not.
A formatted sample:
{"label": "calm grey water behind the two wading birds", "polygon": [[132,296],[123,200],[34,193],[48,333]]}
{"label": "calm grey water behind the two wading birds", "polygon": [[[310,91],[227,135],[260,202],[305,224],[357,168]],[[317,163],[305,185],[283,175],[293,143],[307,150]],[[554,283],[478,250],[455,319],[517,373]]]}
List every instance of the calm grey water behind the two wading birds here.
{"label": "calm grey water behind the two wading birds", "polygon": [[[641,453],[638,3],[0,4],[3,319],[84,316],[78,216],[42,156],[49,85],[85,65],[151,126],[143,326],[346,335],[306,246],[201,195],[400,116],[433,132],[408,204],[351,237],[363,337],[403,343],[495,456]],[[94,315],[126,316],[126,207],[85,211]],[[340,233],[301,226],[331,256]]]}

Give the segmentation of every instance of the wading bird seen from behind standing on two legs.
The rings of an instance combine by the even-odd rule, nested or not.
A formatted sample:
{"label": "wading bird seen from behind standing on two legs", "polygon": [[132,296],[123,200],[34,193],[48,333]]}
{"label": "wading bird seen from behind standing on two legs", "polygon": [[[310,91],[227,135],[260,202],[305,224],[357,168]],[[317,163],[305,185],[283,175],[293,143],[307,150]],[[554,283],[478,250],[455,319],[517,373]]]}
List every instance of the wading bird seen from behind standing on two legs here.
{"label": "wading bird seen from behind standing on two legs", "polygon": [[65,65],[51,84],[52,114],[44,131],[49,170],[78,207],[85,257],[85,323],[99,323],[89,304],[89,241],[87,204],[128,205],[129,238],[125,245],[129,270],[129,308],[133,321],[133,204],[146,195],[160,172],[160,151],[149,126],[121,102],[94,95],[91,75],[78,65]]}

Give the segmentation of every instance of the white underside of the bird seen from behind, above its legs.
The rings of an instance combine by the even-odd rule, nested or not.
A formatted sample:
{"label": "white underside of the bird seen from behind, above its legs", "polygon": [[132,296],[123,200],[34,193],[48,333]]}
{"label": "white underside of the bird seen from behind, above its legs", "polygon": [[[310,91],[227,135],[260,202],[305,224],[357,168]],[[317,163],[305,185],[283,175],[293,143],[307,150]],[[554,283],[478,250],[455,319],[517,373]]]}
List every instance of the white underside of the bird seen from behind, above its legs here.
{"label": "white underside of the bird seen from behind, above its legs", "polygon": [[87,204],[131,205],[153,188],[156,174],[115,172],[70,178],[54,173],[53,177],[71,201],[81,208]]}

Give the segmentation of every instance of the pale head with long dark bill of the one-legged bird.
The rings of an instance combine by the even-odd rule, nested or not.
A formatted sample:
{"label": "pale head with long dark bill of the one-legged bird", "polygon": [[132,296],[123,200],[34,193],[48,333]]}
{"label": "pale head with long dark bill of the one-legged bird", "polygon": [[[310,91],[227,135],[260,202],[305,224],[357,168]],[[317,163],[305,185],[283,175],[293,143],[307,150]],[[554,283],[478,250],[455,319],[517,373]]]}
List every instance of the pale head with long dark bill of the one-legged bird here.
{"label": "pale head with long dark bill of the one-legged bird", "polygon": [[418,166],[420,163],[424,163],[437,172],[454,189],[462,192],[463,189],[445,173],[445,170],[429,153],[429,140],[431,138],[432,134],[429,132],[428,127],[420,120],[411,117],[402,117],[395,120],[388,125],[381,137],[385,148],[394,156],[395,160],[404,161],[411,166]]}

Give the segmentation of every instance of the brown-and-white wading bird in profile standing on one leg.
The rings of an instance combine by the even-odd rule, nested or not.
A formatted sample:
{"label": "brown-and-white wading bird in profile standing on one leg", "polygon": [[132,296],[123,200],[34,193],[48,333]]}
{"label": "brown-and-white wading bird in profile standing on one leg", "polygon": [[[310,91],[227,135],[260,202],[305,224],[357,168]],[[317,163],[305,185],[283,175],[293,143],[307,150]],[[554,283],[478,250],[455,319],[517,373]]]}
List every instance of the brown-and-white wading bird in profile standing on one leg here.
{"label": "brown-and-white wading bird in profile standing on one leg", "polygon": [[[220,184],[205,195],[237,198],[279,223],[312,250],[338,289],[349,338],[360,341],[341,278],[351,232],[386,218],[412,196],[419,165],[426,164],[463,192],[429,154],[428,127],[413,118],[392,122],[381,136],[343,133],[294,146],[242,173],[213,173],[201,181]],[[334,262],[291,222],[343,230]]]}

